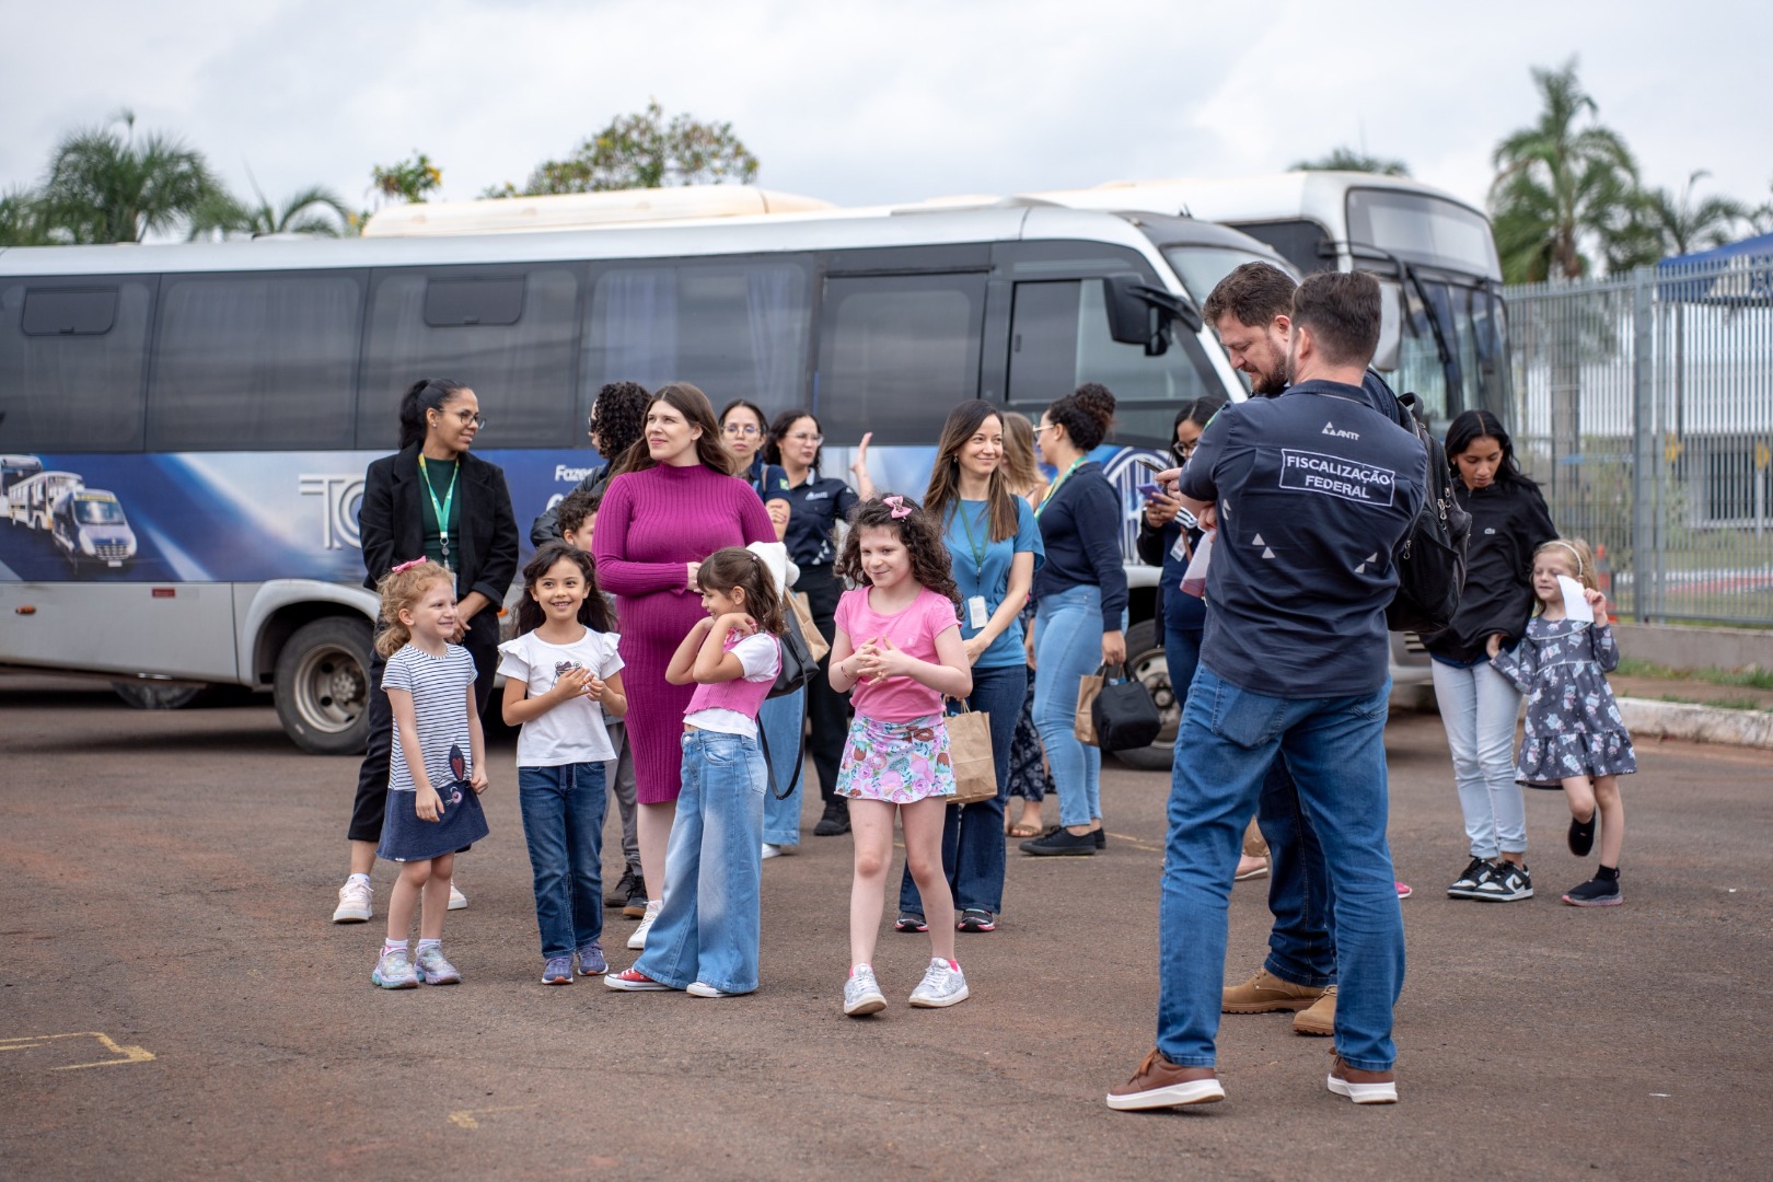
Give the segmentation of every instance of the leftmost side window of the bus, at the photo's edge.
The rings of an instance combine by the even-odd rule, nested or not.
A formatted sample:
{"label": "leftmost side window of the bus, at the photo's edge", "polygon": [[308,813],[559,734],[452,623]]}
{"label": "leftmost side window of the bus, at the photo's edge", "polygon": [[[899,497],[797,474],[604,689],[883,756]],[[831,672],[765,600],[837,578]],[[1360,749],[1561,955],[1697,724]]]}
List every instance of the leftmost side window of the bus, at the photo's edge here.
{"label": "leftmost side window of the bus, at the photo's edge", "polygon": [[151,292],[0,287],[0,448],[140,450]]}

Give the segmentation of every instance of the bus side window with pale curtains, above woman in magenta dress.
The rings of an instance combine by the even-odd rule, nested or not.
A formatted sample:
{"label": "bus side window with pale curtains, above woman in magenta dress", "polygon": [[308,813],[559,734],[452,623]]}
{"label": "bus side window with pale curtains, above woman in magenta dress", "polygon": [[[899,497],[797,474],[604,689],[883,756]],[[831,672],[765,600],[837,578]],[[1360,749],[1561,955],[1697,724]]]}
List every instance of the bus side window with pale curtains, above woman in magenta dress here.
{"label": "bus side window with pale curtains, above woman in magenta dress", "polygon": [[580,402],[589,409],[608,381],[638,381],[649,390],[688,381],[715,406],[746,399],[771,415],[805,406],[808,285],[810,268],[801,259],[599,269]]}

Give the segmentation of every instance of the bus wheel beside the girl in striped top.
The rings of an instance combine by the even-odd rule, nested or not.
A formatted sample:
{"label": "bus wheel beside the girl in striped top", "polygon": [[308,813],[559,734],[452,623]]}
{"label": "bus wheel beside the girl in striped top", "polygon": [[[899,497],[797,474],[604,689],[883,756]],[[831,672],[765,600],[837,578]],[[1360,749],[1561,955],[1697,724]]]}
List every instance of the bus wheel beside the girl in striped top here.
{"label": "bus wheel beside the girl in striped top", "polygon": [[324,617],[277,654],[277,718],[310,755],[362,755],[369,735],[369,624]]}

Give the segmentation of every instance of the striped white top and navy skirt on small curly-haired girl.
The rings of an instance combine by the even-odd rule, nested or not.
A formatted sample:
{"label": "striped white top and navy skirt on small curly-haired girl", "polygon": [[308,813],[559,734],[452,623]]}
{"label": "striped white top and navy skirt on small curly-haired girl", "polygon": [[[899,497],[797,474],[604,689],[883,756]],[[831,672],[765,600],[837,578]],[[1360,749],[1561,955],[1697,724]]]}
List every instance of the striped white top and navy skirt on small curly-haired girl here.
{"label": "striped white top and navy skirt on small curly-haired girl", "polygon": [[394,725],[394,753],[388,758],[388,810],[381,820],[378,858],[388,861],[424,861],[456,852],[486,836],[480,797],[468,787],[473,773],[473,746],[468,739],[468,691],[473,688],[473,657],[461,645],[449,645],[441,657],[406,645],[381,675],[383,689],[413,695],[418,750],[426,776],[443,799],[438,820],[420,820],[413,773],[401,748],[401,728]]}

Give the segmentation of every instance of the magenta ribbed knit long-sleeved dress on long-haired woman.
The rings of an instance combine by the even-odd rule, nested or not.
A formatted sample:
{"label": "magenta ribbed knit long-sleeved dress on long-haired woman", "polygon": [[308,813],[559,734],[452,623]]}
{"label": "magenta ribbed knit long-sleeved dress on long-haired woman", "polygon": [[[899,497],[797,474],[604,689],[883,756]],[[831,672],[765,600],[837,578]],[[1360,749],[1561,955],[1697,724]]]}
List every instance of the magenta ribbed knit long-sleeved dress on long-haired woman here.
{"label": "magenta ribbed knit long-sleeved dress on long-haired woman", "polygon": [[622,473],[603,494],[592,549],[598,585],[615,594],[622,629],[628,743],[642,805],[676,801],[683,787],[683,712],[695,686],[668,684],[665,666],[707,615],[702,594],[684,585],[684,565],[723,546],[773,540],[752,486],[704,464]]}

